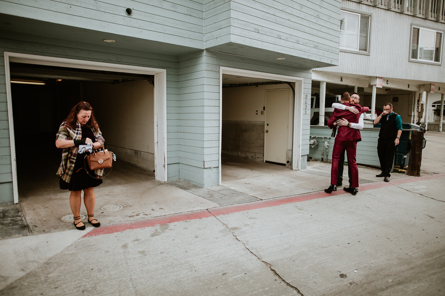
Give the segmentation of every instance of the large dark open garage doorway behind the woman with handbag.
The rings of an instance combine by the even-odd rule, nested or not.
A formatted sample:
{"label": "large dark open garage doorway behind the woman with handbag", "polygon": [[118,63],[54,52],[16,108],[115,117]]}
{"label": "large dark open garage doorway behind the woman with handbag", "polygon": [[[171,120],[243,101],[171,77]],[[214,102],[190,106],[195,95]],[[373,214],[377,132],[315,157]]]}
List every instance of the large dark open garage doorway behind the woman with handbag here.
{"label": "large dark open garage doorway behind the woman with handbag", "polygon": [[[56,171],[61,151],[55,148],[55,134],[62,120],[79,101],[92,105],[105,138],[105,148],[117,155],[118,161],[114,163],[110,177],[104,179],[104,185],[132,183],[132,178],[140,181],[155,178],[160,164],[159,134],[161,143],[165,143],[156,122],[165,118],[163,114],[156,116],[159,105],[163,105],[157,104],[160,93],[156,89],[156,72],[143,73],[137,69],[137,73],[129,73],[124,72],[128,69],[121,65],[118,67],[124,71],[107,71],[110,69],[106,67],[102,70],[99,65],[95,69],[77,68],[69,63],[71,67],[63,67],[66,65],[66,61],[54,66],[22,63],[22,60],[14,58],[8,63],[15,203],[18,197],[51,195],[60,191]],[[165,125],[161,122],[163,127]],[[160,156],[165,159],[164,153]],[[166,181],[163,178],[166,173],[164,164],[161,172],[156,174],[156,179],[161,181]]]}

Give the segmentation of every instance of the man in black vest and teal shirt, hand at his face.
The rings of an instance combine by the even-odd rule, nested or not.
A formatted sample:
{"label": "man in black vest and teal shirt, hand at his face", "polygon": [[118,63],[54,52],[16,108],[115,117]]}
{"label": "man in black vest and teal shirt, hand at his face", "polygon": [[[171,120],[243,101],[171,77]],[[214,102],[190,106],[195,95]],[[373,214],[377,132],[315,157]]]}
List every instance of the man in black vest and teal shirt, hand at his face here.
{"label": "man in black vest and teal shirt, hand at his face", "polygon": [[374,124],[381,123],[379,140],[377,142],[377,154],[380,160],[382,172],[376,177],[384,177],[385,182],[389,182],[389,173],[394,162],[396,146],[399,145],[402,134],[402,118],[392,111],[392,104],[386,103],[383,112],[374,120]]}

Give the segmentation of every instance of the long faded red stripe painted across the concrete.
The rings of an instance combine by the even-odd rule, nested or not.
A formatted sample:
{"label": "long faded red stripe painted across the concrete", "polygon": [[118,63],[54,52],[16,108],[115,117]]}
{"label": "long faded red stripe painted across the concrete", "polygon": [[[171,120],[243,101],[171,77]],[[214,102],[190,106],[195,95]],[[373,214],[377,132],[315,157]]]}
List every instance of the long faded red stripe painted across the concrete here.
{"label": "long faded red stripe painted across the concrete", "polygon": [[[374,183],[367,183],[367,184],[360,186],[360,192],[366,191],[366,190],[388,187],[388,186],[392,186],[392,185],[433,180],[433,179],[439,179],[439,178],[445,178],[445,173],[444,174],[426,175],[423,177],[406,177],[406,178],[394,179],[391,182],[380,181],[380,182],[374,182]],[[173,214],[173,215],[168,215],[168,216],[153,217],[153,218],[148,218],[148,219],[143,219],[143,220],[101,226],[100,228],[92,229],[89,233],[85,234],[83,237],[95,237],[95,236],[102,235],[102,234],[117,233],[117,232],[122,232],[122,231],[130,230],[130,229],[140,229],[140,228],[152,227],[152,226],[162,225],[162,224],[167,224],[167,223],[174,223],[174,222],[180,222],[180,221],[195,220],[195,219],[201,219],[201,218],[207,218],[207,217],[213,217],[213,216],[219,216],[219,215],[226,215],[226,214],[230,214],[230,213],[243,212],[243,211],[248,211],[248,210],[252,210],[252,209],[262,209],[262,208],[268,208],[268,207],[273,207],[273,206],[277,206],[277,205],[285,205],[285,204],[290,204],[290,203],[294,203],[294,202],[309,201],[309,200],[316,199],[316,198],[330,197],[330,196],[342,195],[342,194],[348,194],[348,193],[345,192],[344,190],[338,190],[338,191],[335,191],[332,193],[325,193],[324,191],[318,191],[318,192],[306,193],[306,194],[301,194],[301,195],[296,195],[296,196],[291,196],[291,197],[278,197],[278,198],[266,199],[266,200],[262,200],[262,201],[253,201],[253,202],[249,202],[247,204],[241,204],[241,205],[240,204],[225,205],[225,206],[208,209],[208,210],[198,210],[198,211],[187,212],[187,213],[179,213],[179,214]]]}

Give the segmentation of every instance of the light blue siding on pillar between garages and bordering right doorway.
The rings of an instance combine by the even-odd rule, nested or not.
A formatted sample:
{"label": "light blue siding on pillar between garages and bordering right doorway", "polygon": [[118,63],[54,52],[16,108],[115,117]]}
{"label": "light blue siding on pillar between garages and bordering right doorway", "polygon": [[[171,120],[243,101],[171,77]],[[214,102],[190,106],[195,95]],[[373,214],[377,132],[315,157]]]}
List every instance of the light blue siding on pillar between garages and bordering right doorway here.
{"label": "light blue siding on pillar between garages and bordering right doorway", "polygon": [[[218,184],[219,158],[219,69],[260,71],[304,78],[304,94],[310,97],[310,71],[298,67],[204,51],[180,57],[178,69],[178,143],[180,178],[200,186]],[[303,118],[309,130],[309,115]],[[308,153],[308,132],[303,135],[303,153]],[[304,167],[303,167],[304,169]]]}

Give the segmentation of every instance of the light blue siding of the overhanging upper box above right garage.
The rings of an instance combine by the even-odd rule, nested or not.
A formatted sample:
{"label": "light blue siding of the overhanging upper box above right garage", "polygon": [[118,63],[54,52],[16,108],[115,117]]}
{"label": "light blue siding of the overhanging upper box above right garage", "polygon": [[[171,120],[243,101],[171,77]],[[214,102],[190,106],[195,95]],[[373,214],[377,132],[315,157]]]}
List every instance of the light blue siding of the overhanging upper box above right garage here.
{"label": "light blue siding of the overhanging upper box above right garage", "polygon": [[338,63],[339,0],[212,0],[205,18],[207,49],[303,67]]}

